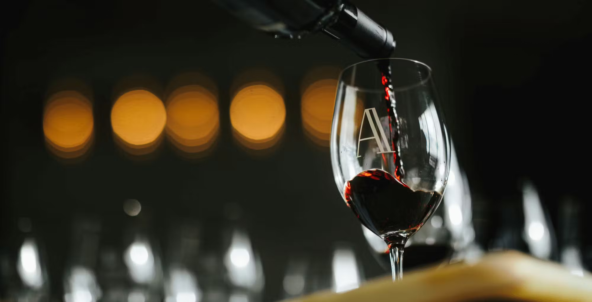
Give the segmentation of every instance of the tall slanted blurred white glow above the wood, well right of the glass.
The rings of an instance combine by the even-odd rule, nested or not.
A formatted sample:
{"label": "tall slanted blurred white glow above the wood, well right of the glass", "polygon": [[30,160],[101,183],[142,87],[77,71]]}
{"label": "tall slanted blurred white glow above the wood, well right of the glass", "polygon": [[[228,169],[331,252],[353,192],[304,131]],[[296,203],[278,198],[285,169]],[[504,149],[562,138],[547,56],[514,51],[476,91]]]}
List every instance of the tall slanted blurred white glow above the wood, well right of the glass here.
{"label": "tall slanted blurred white glow above the wood, well right of the glass", "polygon": [[539,194],[530,182],[522,185],[522,206],[524,209],[525,241],[533,256],[549,259],[552,253],[551,229],[545,211],[540,204]]}

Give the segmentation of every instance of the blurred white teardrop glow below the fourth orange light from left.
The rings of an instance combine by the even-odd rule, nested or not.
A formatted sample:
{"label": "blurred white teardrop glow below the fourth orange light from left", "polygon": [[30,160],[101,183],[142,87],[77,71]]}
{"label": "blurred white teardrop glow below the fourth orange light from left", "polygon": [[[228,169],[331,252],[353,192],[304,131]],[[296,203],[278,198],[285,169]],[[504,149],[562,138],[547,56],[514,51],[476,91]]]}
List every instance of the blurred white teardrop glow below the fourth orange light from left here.
{"label": "blurred white teardrop glow below the fourth orange light from left", "polygon": [[263,270],[246,233],[234,231],[230,247],[224,256],[224,265],[234,286],[253,291],[262,290]]}

